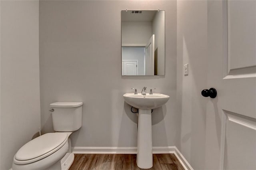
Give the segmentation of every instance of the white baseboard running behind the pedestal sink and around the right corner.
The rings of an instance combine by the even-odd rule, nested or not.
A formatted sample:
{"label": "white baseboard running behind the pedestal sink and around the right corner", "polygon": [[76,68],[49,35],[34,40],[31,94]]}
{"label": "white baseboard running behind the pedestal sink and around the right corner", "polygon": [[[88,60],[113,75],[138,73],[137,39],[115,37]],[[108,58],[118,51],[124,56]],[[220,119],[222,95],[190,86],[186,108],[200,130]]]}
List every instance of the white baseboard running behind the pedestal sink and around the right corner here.
{"label": "white baseboard running behind the pedestal sink and around the right corner", "polygon": [[[137,147],[72,147],[72,152],[74,154],[137,154]],[[175,154],[185,170],[193,170],[176,146],[153,147],[152,152]]]}

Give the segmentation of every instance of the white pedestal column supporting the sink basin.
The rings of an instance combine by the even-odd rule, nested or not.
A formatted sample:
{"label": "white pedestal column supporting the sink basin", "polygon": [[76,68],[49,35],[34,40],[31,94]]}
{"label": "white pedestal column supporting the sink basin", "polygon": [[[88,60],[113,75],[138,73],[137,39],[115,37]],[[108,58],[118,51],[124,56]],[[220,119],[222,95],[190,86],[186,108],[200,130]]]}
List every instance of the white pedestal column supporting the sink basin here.
{"label": "white pedestal column supporting the sink basin", "polygon": [[148,169],[153,166],[151,109],[139,109],[137,165]]}

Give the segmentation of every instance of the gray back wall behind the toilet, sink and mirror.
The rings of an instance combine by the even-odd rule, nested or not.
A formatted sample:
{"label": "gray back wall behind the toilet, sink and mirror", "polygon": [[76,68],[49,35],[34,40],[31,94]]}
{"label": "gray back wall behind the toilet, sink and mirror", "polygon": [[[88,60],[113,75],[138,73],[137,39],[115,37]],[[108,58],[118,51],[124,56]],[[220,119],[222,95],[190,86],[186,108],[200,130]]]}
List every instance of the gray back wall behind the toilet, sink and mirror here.
{"label": "gray back wall behind the toilet, sink and mirror", "polygon": [[[121,76],[121,10],[166,10],[165,76]],[[170,100],[152,114],[153,146],[174,146],[176,1],[40,1],[40,97],[43,132],[52,132],[49,104],[82,101],[73,146],[136,146],[137,116],[122,95],[152,87]]]}

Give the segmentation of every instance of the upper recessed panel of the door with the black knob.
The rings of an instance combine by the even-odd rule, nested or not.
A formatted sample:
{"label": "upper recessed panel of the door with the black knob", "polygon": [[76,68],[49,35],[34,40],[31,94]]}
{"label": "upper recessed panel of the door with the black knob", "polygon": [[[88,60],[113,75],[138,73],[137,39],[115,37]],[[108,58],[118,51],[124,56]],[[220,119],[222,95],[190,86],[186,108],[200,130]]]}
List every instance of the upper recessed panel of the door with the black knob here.
{"label": "upper recessed panel of the door with the black knob", "polygon": [[256,1],[229,0],[227,78],[256,77]]}

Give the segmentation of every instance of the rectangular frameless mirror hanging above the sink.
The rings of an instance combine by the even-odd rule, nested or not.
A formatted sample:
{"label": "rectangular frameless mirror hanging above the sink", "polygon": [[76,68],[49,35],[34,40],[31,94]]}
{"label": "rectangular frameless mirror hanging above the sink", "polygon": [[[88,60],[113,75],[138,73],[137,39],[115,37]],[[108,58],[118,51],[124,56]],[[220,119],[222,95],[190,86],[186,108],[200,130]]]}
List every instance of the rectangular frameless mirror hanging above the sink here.
{"label": "rectangular frameless mirror hanging above the sink", "polygon": [[122,75],[164,75],[164,10],[121,11]]}

